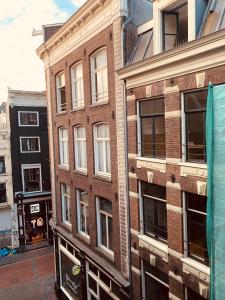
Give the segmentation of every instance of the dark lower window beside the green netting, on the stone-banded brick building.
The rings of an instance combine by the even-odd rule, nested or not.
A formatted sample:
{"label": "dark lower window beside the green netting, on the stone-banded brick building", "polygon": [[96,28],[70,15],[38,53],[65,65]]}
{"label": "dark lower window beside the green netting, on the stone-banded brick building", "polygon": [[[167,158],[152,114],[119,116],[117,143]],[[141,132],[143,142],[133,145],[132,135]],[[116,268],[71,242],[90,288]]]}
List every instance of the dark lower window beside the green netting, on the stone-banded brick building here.
{"label": "dark lower window beside the green netting, on the stone-banded brick building", "polygon": [[188,255],[208,264],[206,243],[206,204],[207,198],[196,194],[185,193],[187,207]]}

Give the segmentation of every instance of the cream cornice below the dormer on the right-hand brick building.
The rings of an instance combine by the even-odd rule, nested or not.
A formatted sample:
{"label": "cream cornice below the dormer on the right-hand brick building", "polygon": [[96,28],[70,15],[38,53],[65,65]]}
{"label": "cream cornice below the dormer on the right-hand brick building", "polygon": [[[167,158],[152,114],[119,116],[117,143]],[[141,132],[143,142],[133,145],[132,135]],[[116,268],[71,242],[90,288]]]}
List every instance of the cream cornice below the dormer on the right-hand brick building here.
{"label": "cream cornice below the dormer on the right-hand brick building", "polygon": [[[208,53],[215,54],[216,51],[218,51],[219,49],[221,50],[223,48],[225,50],[225,29],[196,39],[194,41],[188,42],[186,44],[181,45],[180,47],[171,49],[169,51],[156,54],[150,58],[129,65],[123,69],[117,70],[117,72],[120,76],[120,79],[127,81],[134,80],[135,77],[141,76],[144,73],[145,75],[147,73],[151,73],[154,75],[154,72],[156,72],[159,69],[167,67],[172,68],[172,66],[178,65],[179,63],[181,64],[182,62],[187,60],[191,61],[194,57],[205,56]],[[199,61],[198,63],[200,64],[201,61]],[[198,63],[195,66],[196,68],[198,67]],[[221,61],[221,63],[215,61],[215,64],[222,63],[223,61]],[[206,62],[205,67],[207,66],[208,64]],[[163,73],[165,72],[162,72],[162,78]],[[174,71],[174,73],[171,74],[171,76],[175,76],[176,73],[179,73],[179,69],[177,69],[177,71]],[[154,78],[154,80],[157,81],[157,78]],[[144,85],[145,83],[146,82],[143,82],[142,85]]]}

